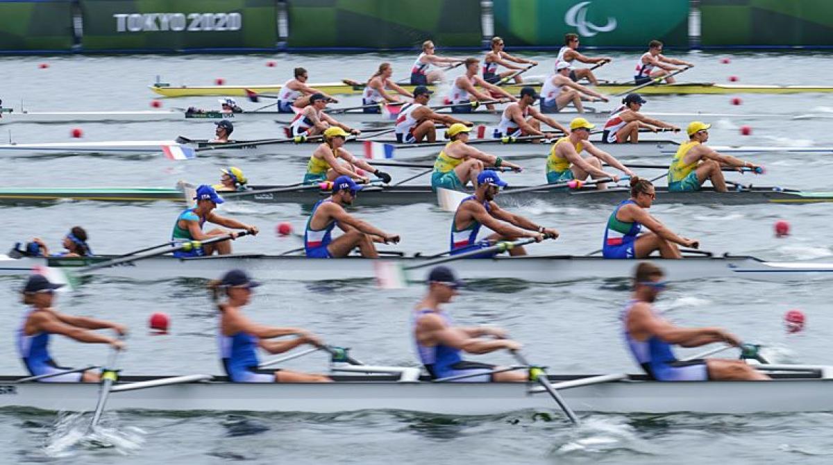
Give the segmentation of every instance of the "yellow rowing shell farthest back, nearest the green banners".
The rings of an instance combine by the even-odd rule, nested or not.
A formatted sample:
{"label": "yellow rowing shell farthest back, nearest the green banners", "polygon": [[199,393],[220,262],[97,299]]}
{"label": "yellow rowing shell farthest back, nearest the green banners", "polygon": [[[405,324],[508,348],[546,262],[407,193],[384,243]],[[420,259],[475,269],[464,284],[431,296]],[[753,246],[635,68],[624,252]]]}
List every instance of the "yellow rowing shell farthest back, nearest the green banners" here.
{"label": "yellow rowing shell farthest back, nearest the green banners", "polygon": [[[333,94],[360,94],[364,86],[353,86],[345,82],[321,82],[309,84],[322,92]],[[521,87],[532,86],[541,90],[541,82],[524,82],[502,86],[512,95],[521,93]],[[594,87],[596,91],[605,94],[615,94],[634,87],[633,82],[613,82]],[[281,91],[280,84],[252,85],[252,86],[169,86],[167,84],[153,84],[149,86],[152,92],[165,97],[204,97],[204,96],[247,96],[247,90],[262,94],[277,94]],[[408,92],[413,92],[415,86],[402,86]],[[432,90],[433,86],[430,86]],[[778,85],[740,85],[716,84],[714,82],[676,82],[674,84],[654,84],[642,87],[639,91],[645,95],[675,95],[675,94],[729,94],[729,93],[806,93],[833,92],[833,86],[778,86]]]}

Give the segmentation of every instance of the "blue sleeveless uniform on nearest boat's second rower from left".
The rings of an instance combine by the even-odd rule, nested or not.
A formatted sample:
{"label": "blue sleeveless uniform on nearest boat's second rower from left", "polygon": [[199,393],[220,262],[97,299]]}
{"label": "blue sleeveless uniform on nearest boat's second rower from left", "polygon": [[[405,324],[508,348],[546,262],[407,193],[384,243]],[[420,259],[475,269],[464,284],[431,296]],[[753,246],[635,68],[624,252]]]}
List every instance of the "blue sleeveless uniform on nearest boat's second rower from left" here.
{"label": "blue sleeveless uniform on nearest boat's second rower from left", "polygon": [[222,328],[217,329],[217,343],[220,345],[222,368],[233,383],[274,383],[277,370],[259,370],[257,365],[258,339],[249,333],[226,336]]}

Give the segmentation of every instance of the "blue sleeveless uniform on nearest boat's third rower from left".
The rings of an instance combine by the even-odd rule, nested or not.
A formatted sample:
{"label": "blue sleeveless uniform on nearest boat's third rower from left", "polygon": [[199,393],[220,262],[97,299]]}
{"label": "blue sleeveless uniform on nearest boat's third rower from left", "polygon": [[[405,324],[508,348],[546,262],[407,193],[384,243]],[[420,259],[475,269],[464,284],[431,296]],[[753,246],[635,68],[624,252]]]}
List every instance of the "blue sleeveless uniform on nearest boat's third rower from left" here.
{"label": "blue sleeveless uniform on nearest boat's third rower from left", "polygon": [[436,313],[448,325],[451,325],[451,318],[445,312],[434,312],[431,309],[423,308],[412,314],[411,318],[411,333],[414,338],[414,345],[416,345],[416,354],[419,356],[420,362],[431,375],[431,379],[448,378],[451,376],[458,376],[463,374],[483,373],[480,376],[472,376],[469,378],[462,378],[456,380],[459,383],[483,383],[492,381],[491,370],[495,368],[494,365],[488,363],[466,362],[460,357],[460,349],[450,348],[442,344],[437,344],[433,347],[426,347],[416,340],[416,321],[422,315],[427,313]]}

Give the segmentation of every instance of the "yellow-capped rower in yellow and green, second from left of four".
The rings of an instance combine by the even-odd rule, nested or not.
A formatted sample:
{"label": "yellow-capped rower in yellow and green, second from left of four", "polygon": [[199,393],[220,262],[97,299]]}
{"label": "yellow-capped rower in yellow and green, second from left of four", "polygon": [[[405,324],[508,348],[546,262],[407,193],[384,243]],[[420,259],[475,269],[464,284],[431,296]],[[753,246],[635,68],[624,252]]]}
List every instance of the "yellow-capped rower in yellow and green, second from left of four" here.
{"label": "yellow-capped rower in yellow and green, second from left of four", "polygon": [[465,124],[456,122],[446,131],[446,137],[451,142],[446,143],[434,162],[434,173],[431,173],[431,189],[437,188],[452,189],[455,191],[466,190],[466,185],[471,183],[477,185],[477,176],[484,167],[511,168],[520,172],[523,168],[515,163],[509,163],[503,158],[483,153],[476,148],[466,145],[469,140],[469,132]]}

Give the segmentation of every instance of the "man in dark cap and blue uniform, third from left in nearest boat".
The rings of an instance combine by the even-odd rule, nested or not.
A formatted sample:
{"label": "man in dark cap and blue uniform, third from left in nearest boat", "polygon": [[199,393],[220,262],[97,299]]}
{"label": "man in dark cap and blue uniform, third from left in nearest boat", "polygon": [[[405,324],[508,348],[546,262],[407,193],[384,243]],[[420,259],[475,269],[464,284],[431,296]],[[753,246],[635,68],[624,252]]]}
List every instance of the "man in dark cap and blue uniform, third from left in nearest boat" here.
{"label": "man in dark cap and blue uniform, third from left in nearest boat", "polygon": [[[431,379],[476,375],[451,380],[460,383],[528,381],[525,370],[501,371],[505,368],[488,363],[469,362],[461,353],[492,353],[506,349],[516,351],[521,344],[506,338],[506,332],[493,326],[454,326],[441,306],[450,303],[463,283],[451,268],[436,267],[428,273],[428,293],[412,313],[412,334],[416,354]],[[487,337],[489,337],[487,339]],[[499,372],[499,373],[495,373]]]}

